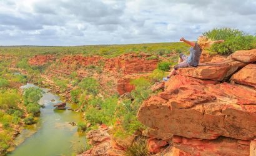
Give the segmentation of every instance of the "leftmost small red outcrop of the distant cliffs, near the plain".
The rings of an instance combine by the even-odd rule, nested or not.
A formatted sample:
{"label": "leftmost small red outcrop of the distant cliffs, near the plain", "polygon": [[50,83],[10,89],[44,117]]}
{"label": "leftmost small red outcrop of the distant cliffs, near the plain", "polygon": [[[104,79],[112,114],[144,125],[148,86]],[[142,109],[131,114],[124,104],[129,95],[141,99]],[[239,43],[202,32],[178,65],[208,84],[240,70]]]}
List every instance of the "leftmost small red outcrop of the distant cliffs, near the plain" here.
{"label": "leftmost small red outcrop of the distant cliffs, near the plain", "polygon": [[36,55],[29,59],[29,64],[32,66],[42,66],[47,62],[54,61],[55,57],[52,55]]}

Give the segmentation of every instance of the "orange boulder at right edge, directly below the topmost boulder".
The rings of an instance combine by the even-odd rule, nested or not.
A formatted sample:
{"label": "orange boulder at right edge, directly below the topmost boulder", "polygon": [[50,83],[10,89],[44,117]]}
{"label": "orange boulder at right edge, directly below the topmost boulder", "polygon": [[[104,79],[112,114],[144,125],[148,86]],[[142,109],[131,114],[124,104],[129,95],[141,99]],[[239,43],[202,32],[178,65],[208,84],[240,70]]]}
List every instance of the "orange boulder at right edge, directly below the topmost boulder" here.
{"label": "orange boulder at right edge, directly below the topmost boulder", "polygon": [[250,85],[256,87],[256,64],[249,64],[235,73],[231,80],[237,84]]}

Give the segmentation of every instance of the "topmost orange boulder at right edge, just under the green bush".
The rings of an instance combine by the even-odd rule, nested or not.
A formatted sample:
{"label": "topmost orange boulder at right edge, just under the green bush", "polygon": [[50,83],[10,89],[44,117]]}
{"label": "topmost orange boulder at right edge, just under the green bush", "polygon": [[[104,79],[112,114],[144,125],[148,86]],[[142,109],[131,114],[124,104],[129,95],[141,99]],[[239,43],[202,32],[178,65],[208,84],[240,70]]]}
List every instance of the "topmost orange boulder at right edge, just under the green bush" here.
{"label": "topmost orange boulder at right edge, just under the green bush", "polygon": [[230,59],[234,59],[242,62],[256,62],[256,49],[249,51],[236,51],[229,56]]}

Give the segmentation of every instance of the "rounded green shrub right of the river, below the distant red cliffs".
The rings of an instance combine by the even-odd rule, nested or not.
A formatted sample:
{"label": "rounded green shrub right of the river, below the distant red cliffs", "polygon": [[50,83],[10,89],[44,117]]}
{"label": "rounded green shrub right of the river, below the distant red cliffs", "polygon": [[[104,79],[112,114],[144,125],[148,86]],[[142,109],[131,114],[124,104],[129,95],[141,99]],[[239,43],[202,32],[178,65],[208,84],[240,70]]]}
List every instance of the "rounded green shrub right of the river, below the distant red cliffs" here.
{"label": "rounded green shrub right of the river, below the distant red cliffs", "polygon": [[99,82],[92,77],[85,77],[78,85],[82,90],[86,90],[89,94],[97,95],[99,93]]}

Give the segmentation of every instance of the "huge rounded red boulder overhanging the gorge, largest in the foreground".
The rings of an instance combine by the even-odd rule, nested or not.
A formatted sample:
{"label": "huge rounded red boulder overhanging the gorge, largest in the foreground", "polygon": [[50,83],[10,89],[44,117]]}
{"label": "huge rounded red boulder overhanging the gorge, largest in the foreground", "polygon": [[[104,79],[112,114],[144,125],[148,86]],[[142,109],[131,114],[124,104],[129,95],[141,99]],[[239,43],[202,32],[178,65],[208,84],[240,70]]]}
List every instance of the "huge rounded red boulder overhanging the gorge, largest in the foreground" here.
{"label": "huge rounded red boulder overhanging the gorge, largest in the foreground", "polygon": [[140,106],[142,124],[187,138],[217,139],[220,135],[256,137],[256,90],[240,85],[185,85],[150,97]]}

